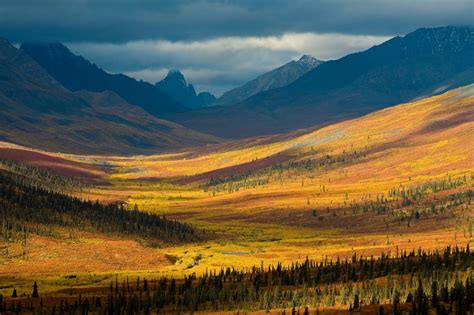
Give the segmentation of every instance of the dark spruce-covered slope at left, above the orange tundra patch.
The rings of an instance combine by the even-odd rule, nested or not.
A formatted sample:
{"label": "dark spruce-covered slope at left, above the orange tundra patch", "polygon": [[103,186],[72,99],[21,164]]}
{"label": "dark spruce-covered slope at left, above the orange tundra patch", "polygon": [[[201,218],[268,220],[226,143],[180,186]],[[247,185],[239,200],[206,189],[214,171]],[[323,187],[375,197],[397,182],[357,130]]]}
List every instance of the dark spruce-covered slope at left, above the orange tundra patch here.
{"label": "dark spruce-covered slope at left, above the orange tundra patch", "polygon": [[0,226],[5,241],[47,234],[51,226],[91,228],[156,242],[192,242],[202,237],[190,224],[122,204],[83,200],[32,184],[29,178],[0,171]]}

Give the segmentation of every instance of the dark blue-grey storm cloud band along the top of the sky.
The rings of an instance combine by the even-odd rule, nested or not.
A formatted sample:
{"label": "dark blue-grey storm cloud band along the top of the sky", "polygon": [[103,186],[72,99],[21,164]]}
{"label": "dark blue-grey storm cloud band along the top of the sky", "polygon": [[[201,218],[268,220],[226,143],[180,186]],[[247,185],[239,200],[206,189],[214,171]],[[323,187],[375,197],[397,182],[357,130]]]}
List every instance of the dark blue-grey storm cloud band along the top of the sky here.
{"label": "dark blue-grey storm cloud band along the top of the sky", "polygon": [[474,1],[439,0],[2,0],[12,41],[128,42],[287,32],[401,34],[472,23]]}

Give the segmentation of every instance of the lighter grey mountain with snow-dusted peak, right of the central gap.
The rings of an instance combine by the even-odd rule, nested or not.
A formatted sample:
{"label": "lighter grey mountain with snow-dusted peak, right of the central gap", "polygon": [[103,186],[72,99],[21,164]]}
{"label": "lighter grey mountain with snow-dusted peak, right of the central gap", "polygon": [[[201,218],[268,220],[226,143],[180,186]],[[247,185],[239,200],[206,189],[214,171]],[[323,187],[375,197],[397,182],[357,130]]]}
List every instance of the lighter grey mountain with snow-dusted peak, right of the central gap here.
{"label": "lighter grey mountain with snow-dusted peak, right of the central gap", "polygon": [[262,74],[244,85],[225,92],[213,105],[229,106],[239,103],[252,95],[288,85],[324,61],[304,55],[299,60],[292,60],[281,67]]}

